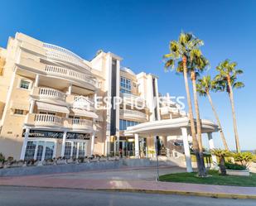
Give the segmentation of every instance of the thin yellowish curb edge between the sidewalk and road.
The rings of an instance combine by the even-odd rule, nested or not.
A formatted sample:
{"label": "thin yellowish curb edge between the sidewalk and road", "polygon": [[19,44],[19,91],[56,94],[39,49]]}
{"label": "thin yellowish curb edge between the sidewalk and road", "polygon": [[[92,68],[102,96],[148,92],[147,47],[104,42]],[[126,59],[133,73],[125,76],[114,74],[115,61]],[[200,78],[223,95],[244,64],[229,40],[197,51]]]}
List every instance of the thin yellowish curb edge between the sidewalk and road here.
{"label": "thin yellowish curb edge between the sidewalk and road", "polygon": [[256,199],[256,195],[252,194],[223,194],[223,193],[206,193],[206,192],[189,192],[179,190],[156,190],[156,189],[84,189],[84,188],[68,188],[68,187],[49,187],[49,186],[21,186],[21,185],[9,185],[0,184],[0,186],[7,187],[25,187],[25,188],[41,188],[41,189],[80,189],[80,190],[91,190],[91,191],[109,191],[109,192],[127,192],[127,193],[145,193],[145,194],[176,194],[185,196],[199,196],[208,197],[215,199]]}

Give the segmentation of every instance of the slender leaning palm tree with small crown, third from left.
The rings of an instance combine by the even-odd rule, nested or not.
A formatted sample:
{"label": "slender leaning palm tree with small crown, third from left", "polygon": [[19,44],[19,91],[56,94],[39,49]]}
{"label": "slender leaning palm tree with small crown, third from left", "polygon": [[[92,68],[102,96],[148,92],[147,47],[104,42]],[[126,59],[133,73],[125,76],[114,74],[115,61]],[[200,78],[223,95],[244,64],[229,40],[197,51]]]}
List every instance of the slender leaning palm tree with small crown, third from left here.
{"label": "slender leaning palm tree with small crown, third from left", "polygon": [[223,144],[225,146],[225,150],[229,151],[229,146],[227,144],[227,141],[225,140],[225,135],[223,132],[223,129],[220,124],[220,118],[215,110],[215,106],[212,102],[212,99],[210,97],[210,91],[215,91],[215,81],[211,79],[210,75],[206,75],[202,77],[201,79],[198,79],[198,83],[196,84],[196,89],[197,92],[199,93],[200,96],[207,96],[210,102],[210,106],[212,108],[212,111],[215,115],[216,121],[218,123],[218,126],[220,128],[220,137],[223,141]]}

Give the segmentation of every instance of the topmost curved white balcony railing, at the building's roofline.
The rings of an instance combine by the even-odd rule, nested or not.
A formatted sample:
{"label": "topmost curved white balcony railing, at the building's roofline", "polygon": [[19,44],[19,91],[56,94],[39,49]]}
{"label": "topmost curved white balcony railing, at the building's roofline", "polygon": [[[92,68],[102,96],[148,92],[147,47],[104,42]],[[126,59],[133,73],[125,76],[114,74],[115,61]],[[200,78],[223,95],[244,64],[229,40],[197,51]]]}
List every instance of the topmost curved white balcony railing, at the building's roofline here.
{"label": "topmost curved white balcony railing, at the building's roofline", "polygon": [[70,50],[46,43],[43,44],[43,47],[46,49],[46,56],[48,58],[66,61],[73,65],[78,65],[89,70],[89,66],[84,63],[84,60],[79,55],[75,55]]}

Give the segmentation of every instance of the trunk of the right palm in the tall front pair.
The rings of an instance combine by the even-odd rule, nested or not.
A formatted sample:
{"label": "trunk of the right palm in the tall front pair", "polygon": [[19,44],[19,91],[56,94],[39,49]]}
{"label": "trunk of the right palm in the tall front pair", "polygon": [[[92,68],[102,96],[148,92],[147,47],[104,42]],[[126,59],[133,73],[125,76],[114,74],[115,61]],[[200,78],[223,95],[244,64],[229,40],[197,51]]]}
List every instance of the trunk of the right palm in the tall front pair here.
{"label": "trunk of the right palm in the tall front pair", "polygon": [[205,160],[204,160],[204,151],[203,151],[203,143],[202,143],[202,134],[201,134],[201,123],[200,123],[200,112],[198,106],[198,99],[197,99],[197,91],[196,91],[196,73],[194,71],[191,72],[191,80],[193,86],[193,95],[194,95],[194,103],[195,103],[195,110],[196,110],[196,132],[197,132],[197,141],[199,145],[199,154],[200,154],[200,176],[206,176],[206,169],[205,169]]}

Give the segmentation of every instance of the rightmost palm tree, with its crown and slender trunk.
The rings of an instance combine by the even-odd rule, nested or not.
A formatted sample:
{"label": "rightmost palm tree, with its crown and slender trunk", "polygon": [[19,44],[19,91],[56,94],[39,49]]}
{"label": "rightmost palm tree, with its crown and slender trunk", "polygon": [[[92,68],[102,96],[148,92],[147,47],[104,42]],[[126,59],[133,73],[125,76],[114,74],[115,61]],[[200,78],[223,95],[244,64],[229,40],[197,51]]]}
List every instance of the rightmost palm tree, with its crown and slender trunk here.
{"label": "rightmost palm tree, with its crown and slender trunk", "polygon": [[224,60],[216,67],[216,69],[220,72],[220,74],[216,75],[215,81],[217,83],[216,89],[218,91],[226,91],[229,94],[229,100],[232,108],[232,117],[233,117],[233,125],[234,125],[234,138],[235,138],[235,146],[236,151],[240,152],[239,145],[239,133],[237,130],[236,117],[234,112],[234,95],[233,89],[240,89],[244,87],[243,82],[237,81],[237,75],[243,74],[243,70],[236,69],[237,63],[230,62],[230,60]]}

